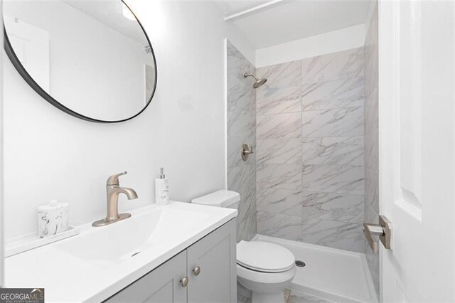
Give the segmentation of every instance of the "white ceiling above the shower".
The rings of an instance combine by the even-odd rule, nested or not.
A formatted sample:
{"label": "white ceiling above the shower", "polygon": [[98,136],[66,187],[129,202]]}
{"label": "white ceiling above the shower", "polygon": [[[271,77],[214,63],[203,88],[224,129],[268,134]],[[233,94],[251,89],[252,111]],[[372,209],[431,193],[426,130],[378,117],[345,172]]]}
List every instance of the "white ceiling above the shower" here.
{"label": "white ceiling above the shower", "polygon": [[[269,2],[215,1],[225,16]],[[226,22],[235,23],[252,46],[258,49],[363,24],[367,18],[369,2],[284,0]]]}

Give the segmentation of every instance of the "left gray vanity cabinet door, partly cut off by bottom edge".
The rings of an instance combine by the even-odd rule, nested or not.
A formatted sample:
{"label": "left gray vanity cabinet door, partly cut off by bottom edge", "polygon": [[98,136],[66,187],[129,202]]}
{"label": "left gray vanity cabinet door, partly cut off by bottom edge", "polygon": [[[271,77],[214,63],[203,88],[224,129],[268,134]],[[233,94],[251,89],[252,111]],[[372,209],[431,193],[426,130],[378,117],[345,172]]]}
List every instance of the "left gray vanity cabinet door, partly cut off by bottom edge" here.
{"label": "left gray vanity cabinet door, partly cut off by bottom edge", "polygon": [[186,302],[186,287],[182,287],[180,282],[185,276],[186,250],[105,302]]}

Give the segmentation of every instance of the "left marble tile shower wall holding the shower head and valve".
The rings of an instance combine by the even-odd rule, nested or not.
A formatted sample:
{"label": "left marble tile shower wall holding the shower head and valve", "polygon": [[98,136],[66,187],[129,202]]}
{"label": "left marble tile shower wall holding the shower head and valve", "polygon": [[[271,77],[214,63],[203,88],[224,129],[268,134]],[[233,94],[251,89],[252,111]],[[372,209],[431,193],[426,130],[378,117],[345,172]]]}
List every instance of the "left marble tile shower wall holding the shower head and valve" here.
{"label": "left marble tile shower wall holding the shower head and valve", "polygon": [[256,154],[248,161],[240,157],[243,143],[256,146],[256,94],[243,73],[255,73],[255,67],[228,41],[228,189],[241,196],[237,242],[251,240],[257,233]]}

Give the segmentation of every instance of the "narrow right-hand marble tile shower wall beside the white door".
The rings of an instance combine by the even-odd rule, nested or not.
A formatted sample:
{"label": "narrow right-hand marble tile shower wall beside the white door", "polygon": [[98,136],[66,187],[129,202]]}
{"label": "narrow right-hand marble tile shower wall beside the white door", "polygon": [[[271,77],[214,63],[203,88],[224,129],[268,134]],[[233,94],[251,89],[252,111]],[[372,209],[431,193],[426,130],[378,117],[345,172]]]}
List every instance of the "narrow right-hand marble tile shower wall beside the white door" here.
{"label": "narrow right-hand marble tile shower wall beside the white door", "polygon": [[[378,223],[378,3],[365,38],[365,222]],[[379,255],[365,241],[365,255],[379,294]]]}

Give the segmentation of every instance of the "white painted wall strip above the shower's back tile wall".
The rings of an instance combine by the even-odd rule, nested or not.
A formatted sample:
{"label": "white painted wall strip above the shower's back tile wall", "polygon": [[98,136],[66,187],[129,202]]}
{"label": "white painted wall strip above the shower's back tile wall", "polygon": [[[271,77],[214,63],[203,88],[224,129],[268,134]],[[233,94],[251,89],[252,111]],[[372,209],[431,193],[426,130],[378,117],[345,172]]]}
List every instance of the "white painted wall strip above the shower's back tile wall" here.
{"label": "white painted wall strip above the shower's back tile wall", "polygon": [[256,67],[301,60],[359,48],[365,43],[365,25],[350,26],[309,38],[256,50]]}

